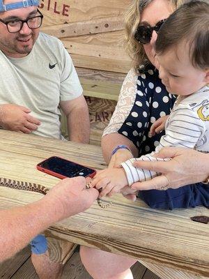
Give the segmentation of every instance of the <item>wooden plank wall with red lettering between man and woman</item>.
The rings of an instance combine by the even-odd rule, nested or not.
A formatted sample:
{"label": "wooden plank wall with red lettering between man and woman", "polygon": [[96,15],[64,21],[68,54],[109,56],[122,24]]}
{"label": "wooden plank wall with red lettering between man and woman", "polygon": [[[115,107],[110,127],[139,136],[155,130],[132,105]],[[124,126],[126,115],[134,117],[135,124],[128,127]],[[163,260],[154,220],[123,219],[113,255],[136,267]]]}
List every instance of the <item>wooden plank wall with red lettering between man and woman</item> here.
{"label": "wooden plank wall with red lettering between man and woman", "polygon": [[[82,82],[89,105],[93,144],[100,144],[121,84],[131,68],[130,58],[123,50],[124,12],[130,2],[40,1],[39,8],[44,15],[42,31],[62,40]],[[65,119],[62,128],[65,135]]]}

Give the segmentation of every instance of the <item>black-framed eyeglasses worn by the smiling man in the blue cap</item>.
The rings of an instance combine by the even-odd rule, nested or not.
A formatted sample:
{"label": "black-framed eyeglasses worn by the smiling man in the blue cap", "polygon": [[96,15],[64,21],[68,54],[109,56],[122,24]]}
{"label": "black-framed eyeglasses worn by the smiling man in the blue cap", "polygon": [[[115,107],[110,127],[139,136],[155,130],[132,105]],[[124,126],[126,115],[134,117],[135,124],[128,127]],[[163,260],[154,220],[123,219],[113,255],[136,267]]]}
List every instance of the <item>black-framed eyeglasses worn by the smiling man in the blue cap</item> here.
{"label": "black-framed eyeglasses worn by the smiling man in the blue cap", "polygon": [[27,20],[15,19],[4,21],[0,19],[0,22],[6,24],[6,27],[10,33],[19,32],[22,29],[24,23],[27,24],[29,29],[38,29],[39,27],[41,27],[43,15],[38,9],[37,12],[39,13],[39,15],[36,15],[36,17],[29,17]]}

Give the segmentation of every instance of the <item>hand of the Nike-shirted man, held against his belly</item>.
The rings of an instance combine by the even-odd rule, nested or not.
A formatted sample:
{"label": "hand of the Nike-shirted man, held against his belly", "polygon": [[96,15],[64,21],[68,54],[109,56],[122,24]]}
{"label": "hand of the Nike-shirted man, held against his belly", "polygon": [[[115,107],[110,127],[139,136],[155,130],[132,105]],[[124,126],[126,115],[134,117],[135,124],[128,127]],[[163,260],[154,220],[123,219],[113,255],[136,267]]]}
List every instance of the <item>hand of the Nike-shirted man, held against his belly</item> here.
{"label": "hand of the Nike-shirted man, held against his belly", "polygon": [[40,125],[40,121],[31,116],[30,112],[31,110],[22,105],[0,105],[0,125],[6,130],[29,134]]}

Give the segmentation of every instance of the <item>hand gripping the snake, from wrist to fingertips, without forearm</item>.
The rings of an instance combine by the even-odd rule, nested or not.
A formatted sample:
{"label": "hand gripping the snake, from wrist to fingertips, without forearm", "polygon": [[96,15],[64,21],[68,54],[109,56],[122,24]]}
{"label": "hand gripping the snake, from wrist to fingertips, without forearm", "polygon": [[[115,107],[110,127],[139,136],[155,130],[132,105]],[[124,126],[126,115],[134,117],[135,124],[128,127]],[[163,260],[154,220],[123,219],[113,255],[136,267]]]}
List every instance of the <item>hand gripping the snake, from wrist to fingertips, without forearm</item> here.
{"label": "hand gripping the snake, from wrist to fingertips, without forearm", "polygon": [[54,222],[85,211],[93,204],[99,192],[95,188],[85,189],[85,186],[86,179],[82,176],[63,179],[42,198]]}

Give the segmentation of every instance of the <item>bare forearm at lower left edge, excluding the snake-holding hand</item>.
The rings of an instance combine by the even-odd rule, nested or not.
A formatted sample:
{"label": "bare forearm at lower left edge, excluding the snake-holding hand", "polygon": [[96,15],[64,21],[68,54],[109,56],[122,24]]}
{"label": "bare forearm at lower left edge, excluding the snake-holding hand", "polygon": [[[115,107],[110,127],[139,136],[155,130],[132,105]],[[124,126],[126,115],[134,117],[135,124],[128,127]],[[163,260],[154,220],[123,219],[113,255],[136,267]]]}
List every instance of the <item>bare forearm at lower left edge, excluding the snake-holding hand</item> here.
{"label": "bare forearm at lower left edge, excluding the snake-holding hand", "polygon": [[13,256],[20,249],[24,248],[38,232],[44,230],[47,221],[52,221],[53,216],[40,214],[45,212],[46,204],[42,200],[17,207],[0,211],[1,232],[0,232],[0,262]]}

